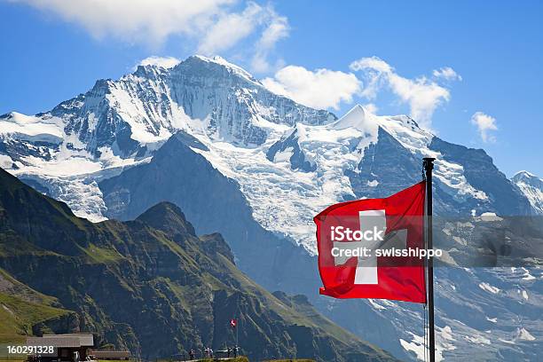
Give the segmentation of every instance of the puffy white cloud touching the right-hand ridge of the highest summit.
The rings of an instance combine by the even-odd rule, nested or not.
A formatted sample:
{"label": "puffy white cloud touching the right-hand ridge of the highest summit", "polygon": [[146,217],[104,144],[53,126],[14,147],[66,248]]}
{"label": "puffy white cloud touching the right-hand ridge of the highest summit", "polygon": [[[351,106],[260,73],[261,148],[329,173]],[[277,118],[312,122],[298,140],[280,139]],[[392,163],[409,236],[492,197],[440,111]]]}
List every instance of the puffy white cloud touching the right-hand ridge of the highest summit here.
{"label": "puffy white cloud touching the right-hand ridge of the highest summit", "polygon": [[279,69],[273,78],[265,78],[262,83],[277,94],[320,109],[339,109],[341,102],[352,102],[353,96],[361,91],[361,83],[352,73],[329,69],[313,72],[296,66]]}

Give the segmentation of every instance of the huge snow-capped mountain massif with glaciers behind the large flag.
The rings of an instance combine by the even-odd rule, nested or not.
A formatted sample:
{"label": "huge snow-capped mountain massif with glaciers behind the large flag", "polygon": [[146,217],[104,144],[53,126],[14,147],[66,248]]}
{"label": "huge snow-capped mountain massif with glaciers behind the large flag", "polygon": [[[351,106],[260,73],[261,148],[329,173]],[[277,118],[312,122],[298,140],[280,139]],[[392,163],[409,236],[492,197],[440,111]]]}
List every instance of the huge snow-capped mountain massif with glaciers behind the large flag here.
{"label": "huge snow-capped mountain massif with glaciers behind the large flag", "polygon": [[[260,284],[311,295],[342,326],[400,358],[421,356],[420,311],[314,295],[312,217],[335,202],[383,197],[420,181],[425,156],[437,158],[438,215],[537,212],[523,186],[483,150],[448,143],[405,115],[354,106],[337,119],[274,94],[220,58],[138,67],[49,112],[0,116],[0,166],[76,215],[129,219],[158,201],[177,203],[197,232],[222,232],[240,268]],[[468,242],[452,236],[458,248]],[[258,256],[263,250],[269,257]],[[538,341],[542,332],[539,274],[437,271],[444,356],[531,356],[537,345],[530,336]],[[463,314],[468,301],[491,321]],[[368,330],[367,321],[378,327]]]}

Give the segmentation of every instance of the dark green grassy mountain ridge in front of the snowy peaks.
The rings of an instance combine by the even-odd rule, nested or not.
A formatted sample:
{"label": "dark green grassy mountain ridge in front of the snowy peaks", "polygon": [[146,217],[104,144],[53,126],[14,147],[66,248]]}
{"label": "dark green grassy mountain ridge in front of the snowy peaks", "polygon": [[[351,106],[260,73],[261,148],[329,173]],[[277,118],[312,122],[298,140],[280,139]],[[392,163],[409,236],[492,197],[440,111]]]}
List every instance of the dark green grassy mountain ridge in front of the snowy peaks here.
{"label": "dark green grassy mountain ridge in front of the snowy peaks", "polygon": [[[134,221],[91,224],[0,169],[0,225],[0,315],[8,316],[0,333],[12,338],[97,332],[101,344],[158,358],[232,345],[236,318],[249,358],[393,359],[319,315],[306,297],[256,285],[220,234],[196,236],[171,203]],[[15,312],[32,328],[13,322]]]}

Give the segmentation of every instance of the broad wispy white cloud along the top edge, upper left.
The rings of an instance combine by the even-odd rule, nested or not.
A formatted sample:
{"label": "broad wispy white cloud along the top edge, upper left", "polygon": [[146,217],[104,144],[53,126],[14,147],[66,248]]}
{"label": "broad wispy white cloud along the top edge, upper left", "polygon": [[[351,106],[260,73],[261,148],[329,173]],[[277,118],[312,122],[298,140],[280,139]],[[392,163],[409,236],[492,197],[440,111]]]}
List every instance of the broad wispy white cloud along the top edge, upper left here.
{"label": "broad wispy white cloud along the top edge, upper left", "polygon": [[[93,37],[111,36],[159,48],[171,35],[184,36],[204,55],[232,49],[249,35],[256,70],[266,70],[268,56],[288,35],[287,18],[271,5],[241,0],[11,0],[28,4],[77,24]],[[244,8],[239,11],[240,4]]]}

